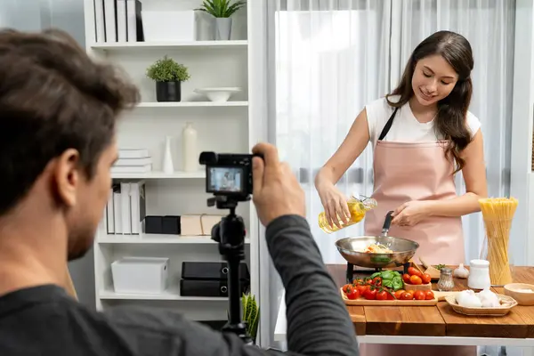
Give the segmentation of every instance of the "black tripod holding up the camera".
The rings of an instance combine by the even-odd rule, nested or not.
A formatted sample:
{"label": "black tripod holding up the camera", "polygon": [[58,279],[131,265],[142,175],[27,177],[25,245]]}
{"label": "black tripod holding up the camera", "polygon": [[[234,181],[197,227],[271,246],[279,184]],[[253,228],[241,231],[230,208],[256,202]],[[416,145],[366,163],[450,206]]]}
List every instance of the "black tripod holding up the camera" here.
{"label": "black tripod holding up the camera", "polygon": [[245,223],[241,216],[236,215],[237,200],[225,196],[207,200],[208,206],[215,204],[219,209],[230,209],[230,214],[223,217],[212,229],[212,239],[219,243],[219,253],[228,262],[229,320],[223,331],[231,331],[245,344],[253,344],[247,334],[247,325],[241,320],[239,263],[245,259]]}

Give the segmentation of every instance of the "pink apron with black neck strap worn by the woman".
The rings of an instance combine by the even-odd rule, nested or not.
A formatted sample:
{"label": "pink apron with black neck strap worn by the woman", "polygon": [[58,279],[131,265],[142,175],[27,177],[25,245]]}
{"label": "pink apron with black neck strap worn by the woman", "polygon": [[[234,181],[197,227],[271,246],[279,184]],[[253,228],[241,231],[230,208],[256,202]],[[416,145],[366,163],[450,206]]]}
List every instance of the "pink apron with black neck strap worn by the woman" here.
{"label": "pink apron with black neck strap worn by the woman", "polygon": [[[392,113],[376,142],[374,155],[375,186],[372,197],[378,206],[365,216],[365,234],[382,232],[388,211],[411,200],[441,200],[457,196],[452,162],[444,156],[445,142],[384,142],[397,109]],[[460,217],[432,216],[415,226],[392,225],[389,236],[419,243],[414,256],[432,264],[464,263],[465,248]],[[424,354],[475,355],[472,346],[360,344],[362,356]]]}

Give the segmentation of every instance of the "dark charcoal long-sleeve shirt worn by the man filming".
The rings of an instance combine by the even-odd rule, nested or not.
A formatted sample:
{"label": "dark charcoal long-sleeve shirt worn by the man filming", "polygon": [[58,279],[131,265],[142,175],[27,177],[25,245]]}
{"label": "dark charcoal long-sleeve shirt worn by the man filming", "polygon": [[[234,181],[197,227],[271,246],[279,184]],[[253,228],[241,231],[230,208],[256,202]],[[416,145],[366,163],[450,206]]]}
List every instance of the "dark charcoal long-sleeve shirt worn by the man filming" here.
{"label": "dark charcoal long-sleeve shirt worn by the man filming", "polygon": [[[266,231],[286,287],[292,355],[358,355],[354,328],[322,263],[308,223],[282,216]],[[0,296],[0,355],[277,355],[242,344],[172,310],[117,307],[93,312],[61,287],[29,287]]]}

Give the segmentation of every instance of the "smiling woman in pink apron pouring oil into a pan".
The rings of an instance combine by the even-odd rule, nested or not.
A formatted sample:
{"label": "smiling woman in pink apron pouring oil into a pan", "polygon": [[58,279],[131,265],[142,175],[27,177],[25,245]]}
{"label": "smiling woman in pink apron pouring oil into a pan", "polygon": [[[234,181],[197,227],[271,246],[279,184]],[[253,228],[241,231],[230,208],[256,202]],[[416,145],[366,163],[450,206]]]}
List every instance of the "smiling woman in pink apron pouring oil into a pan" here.
{"label": "smiling woman in pink apron pouring oil into a pan", "polygon": [[[465,262],[461,216],[480,211],[478,199],[487,196],[481,124],[467,110],[472,69],[473,53],[464,36],[440,31],[417,45],[399,86],[360,112],[316,176],[330,224],[339,226],[336,214],[348,219],[346,198],[335,184],[370,141],[378,206],[366,215],[365,233],[380,234],[385,214],[393,210],[390,235],[416,240],[417,255],[428,263]],[[461,196],[454,183],[459,171],[465,180]],[[394,350],[404,354],[399,346]]]}

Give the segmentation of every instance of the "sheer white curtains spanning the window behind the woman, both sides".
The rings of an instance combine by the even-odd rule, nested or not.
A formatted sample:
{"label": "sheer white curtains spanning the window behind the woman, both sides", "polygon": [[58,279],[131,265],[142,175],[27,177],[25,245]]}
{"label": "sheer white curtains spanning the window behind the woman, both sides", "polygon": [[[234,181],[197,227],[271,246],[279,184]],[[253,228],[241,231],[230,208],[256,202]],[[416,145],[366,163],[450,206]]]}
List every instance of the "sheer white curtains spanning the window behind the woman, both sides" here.
{"label": "sheer white curtains spanning the window behind the woman, both sides", "polygon": [[[397,85],[410,53],[439,29],[473,47],[473,101],[481,120],[490,196],[509,192],[514,64],[514,9],[509,0],[277,0],[275,15],[276,143],[307,194],[307,216],[325,263],[344,263],[334,242],[363,233],[363,224],[328,235],[313,179],[369,101]],[[338,187],[372,192],[367,150]],[[465,185],[457,176],[457,192]],[[480,214],[464,217],[466,262],[483,241]]]}

